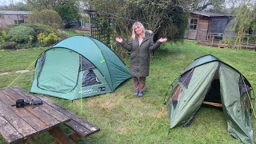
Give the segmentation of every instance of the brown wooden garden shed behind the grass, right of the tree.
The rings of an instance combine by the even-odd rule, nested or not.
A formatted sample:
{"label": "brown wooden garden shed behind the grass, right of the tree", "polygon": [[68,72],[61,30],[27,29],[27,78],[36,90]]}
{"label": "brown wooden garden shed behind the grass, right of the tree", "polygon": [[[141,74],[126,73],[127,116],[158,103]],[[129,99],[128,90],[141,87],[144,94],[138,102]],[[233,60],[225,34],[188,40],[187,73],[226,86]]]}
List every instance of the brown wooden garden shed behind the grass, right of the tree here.
{"label": "brown wooden garden shed behind the grass, right of the tree", "polygon": [[212,37],[222,38],[225,27],[232,18],[230,14],[207,11],[190,12],[186,38],[198,41],[209,40]]}

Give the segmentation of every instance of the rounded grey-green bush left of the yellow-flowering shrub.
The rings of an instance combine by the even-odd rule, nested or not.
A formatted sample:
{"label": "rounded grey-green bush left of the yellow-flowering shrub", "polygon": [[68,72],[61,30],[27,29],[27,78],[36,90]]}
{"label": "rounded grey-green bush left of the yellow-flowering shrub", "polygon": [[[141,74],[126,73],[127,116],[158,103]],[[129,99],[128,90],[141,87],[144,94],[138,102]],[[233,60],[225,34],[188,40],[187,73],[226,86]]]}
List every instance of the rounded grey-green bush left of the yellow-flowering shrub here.
{"label": "rounded grey-green bush left of the yellow-flowering shrub", "polygon": [[30,26],[14,26],[10,29],[7,34],[7,39],[9,41],[18,42],[18,43],[27,43],[34,40],[35,31]]}

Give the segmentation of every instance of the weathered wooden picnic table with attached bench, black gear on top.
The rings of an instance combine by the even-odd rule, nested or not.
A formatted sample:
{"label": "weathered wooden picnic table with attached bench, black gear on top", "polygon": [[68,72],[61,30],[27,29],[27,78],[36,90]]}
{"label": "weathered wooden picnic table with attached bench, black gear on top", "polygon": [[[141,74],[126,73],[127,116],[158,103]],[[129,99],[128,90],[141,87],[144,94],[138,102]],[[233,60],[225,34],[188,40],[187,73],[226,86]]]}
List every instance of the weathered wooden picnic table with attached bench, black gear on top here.
{"label": "weathered wooden picnic table with attached bench, black gear on top", "polygon": [[[16,108],[12,105],[17,99],[42,100],[43,104]],[[62,123],[70,128],[74,126],[74,131],[77,133],[73,136],[65,134],[59,127]],[[49,98],[32,96],[18,87],[0,89],[0,134],[7,143],[26,143],[27,140],[30,143],[36,143],[34,136],[45,131],[48,131],[58,143],[72,144],[78,136],[79,138],[85,137],[94,134],[99,129],[52,102]],[[74,135],[77,136],[74,138]]]}

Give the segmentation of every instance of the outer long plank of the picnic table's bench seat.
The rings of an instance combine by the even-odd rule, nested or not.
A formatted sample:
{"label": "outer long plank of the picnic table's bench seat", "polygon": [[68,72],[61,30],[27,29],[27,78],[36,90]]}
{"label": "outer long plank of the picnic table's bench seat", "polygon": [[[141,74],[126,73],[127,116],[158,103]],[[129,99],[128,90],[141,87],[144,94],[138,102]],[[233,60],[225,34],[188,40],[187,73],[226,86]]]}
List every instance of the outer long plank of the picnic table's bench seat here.
{"label": "outer long plank of the picnic table's bench seat", "polygon": [[62,114],[65,114],[66,116],[72,118],[75,122],[78,122],[82,126],[85,126],[86,128],[88,128],[88,130],[90,130],[90,131],[97,131],[98,130],[98,128],[91,125],[90,122],[87,122],[86,120],[84,120],[82,118],[78,118],[77,115],[70,113],[70,111],[62,108],[62,106],[58,106],[58,104],[56,104],[54,102],[51,102],[50,99],[48,99],[46,97],[42,97],[42,96],[38,96],[38,98],[42,99],[42,101],[44,101],[47,104],[49,104],[50,106],[54,107],[54,109],[62,112]]}

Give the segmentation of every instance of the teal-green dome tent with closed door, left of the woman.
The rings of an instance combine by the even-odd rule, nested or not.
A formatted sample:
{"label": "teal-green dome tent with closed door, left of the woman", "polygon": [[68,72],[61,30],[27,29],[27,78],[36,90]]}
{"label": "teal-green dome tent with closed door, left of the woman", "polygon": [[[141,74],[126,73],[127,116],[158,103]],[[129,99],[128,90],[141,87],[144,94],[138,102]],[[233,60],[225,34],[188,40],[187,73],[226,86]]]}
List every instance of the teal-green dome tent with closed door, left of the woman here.
{"label": "teal-green dome tent with closed door, left of the woman", "polygon": [[78,35],[39,55],[30,92],[74,100],[114,92],[130,77],[113,50],[95,38]]}

